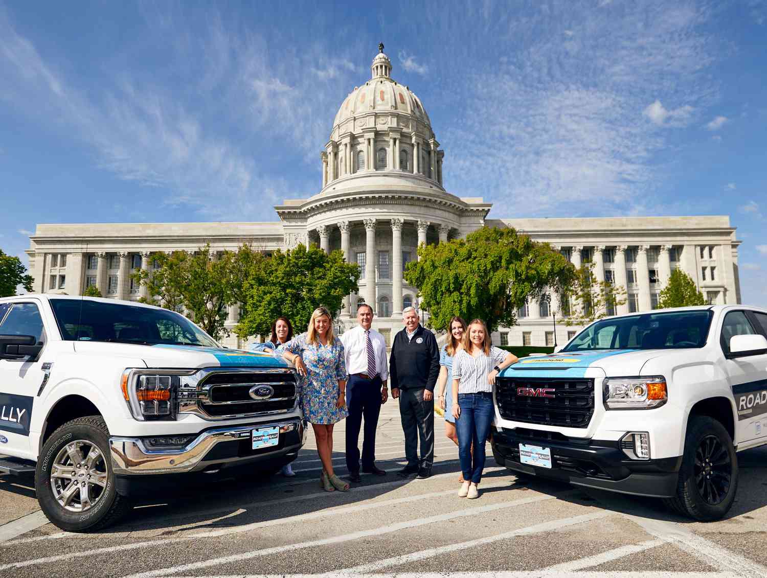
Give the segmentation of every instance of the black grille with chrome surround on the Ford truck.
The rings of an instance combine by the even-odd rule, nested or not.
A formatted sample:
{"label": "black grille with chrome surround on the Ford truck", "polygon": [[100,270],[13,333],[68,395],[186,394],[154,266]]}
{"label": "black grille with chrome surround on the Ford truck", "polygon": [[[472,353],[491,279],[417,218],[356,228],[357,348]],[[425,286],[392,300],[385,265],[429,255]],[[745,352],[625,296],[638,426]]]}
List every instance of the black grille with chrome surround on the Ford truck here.
{"label": "black grille with chrome surround on the Ford truck", "polygon": [[[270,386],[268,399],[253,399],[253,386]],[[222,418],[235,415],[284,413],[295,407],[298,382],[290,369],[216,371],[197,385],[197,408],[205,415]]]}

